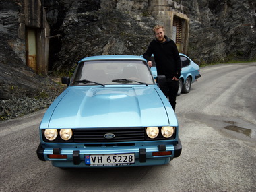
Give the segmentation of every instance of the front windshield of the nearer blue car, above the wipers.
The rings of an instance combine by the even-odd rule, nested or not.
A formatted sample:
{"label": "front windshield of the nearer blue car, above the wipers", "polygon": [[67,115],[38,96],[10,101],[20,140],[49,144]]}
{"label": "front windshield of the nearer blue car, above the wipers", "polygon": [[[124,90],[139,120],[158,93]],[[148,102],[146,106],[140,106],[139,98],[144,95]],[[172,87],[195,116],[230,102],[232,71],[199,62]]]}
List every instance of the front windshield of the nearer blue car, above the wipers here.
{"label": "front windshield of the nearer blue car, above the wipers", "polygon": [[[125,79],[125,80],[124,80]],[[85,61],[79,63],[71,85],[154,84],[143,61]]]}

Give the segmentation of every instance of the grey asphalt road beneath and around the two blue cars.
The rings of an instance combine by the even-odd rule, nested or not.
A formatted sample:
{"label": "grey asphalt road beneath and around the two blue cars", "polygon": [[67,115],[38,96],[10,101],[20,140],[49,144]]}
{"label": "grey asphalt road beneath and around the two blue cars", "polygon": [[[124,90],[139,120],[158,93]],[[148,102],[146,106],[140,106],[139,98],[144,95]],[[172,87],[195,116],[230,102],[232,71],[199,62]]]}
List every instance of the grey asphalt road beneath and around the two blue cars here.
{"label": "grey asphalt road beneath and around the two blue cars", "polygon": [[169,164],[54,168],[36,156],[40,110],[0,122],[0,191],[256,191],[256,63],[201,74],[177,97],[183,152]]}

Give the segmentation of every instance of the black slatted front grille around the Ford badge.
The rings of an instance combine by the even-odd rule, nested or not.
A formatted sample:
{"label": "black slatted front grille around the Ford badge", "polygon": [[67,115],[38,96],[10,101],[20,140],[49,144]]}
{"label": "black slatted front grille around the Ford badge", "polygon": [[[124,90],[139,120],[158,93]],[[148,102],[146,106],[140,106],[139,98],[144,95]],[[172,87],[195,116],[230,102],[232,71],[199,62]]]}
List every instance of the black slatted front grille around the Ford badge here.
{"label": "black slatted front grille around the Ford badge", "polygon": [[[104,138],[107,133],[115,135],[112,139]],[[73,129],[73,139],[75,143],[110,143],[110,142],[130,142],[145,141],[145,131],[143,127],[122,127],[115,129]]]}

